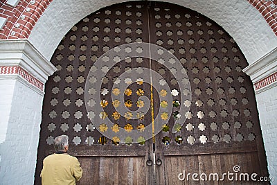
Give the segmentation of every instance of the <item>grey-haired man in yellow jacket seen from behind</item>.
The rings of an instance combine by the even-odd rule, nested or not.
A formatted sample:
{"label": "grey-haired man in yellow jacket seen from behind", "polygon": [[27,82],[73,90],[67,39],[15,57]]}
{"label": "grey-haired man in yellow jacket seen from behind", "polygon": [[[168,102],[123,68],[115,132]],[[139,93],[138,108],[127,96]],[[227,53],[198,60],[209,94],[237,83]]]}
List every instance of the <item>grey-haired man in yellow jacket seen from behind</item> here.
{"label": "grey-haired man in yellow jacket seen from behind", "polygon": [[55,153],[43,161],[42,185],[75,185],[82,177],[82,168],[76,157],[68,155],[69,136],[57,136],[54,140]]}

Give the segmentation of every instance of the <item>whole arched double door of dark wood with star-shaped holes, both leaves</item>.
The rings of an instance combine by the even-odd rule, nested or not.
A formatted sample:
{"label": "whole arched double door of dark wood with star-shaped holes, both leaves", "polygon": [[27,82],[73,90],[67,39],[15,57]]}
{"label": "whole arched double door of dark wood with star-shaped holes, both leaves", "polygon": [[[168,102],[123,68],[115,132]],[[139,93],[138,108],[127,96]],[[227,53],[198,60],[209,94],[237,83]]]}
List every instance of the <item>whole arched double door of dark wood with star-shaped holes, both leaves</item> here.
{"label": "whole arched double door of dark wood with star-shaped holes, both leaves", "polygon": [[[159,63],[148,58],[119,60],[103,55],[132,42],[162,46],[177,57],[183,69],[177,68],[175,60],[161,58]],[[124,48],[124,52],[129,51]],[[99,58],[102,68],[92,69],[95,75],[87,78]],[[107,67],[117,60],[120,62]],[[211,19],[170,3],[120,3],[73,26],[51,62],[58,71],[46,84],[35,184],[39,184],[42,159],[53,152],[53,138],[60,134],[69,135],[71,155],[78,157],[84,168],[80,184],[184,184],[178,179],[184,170],[220,175],[233,173],[236,165],[242,173],[267,174],[253,87],[242,72],[247,61],[230,35]],[[165,63],[171,67],[164,67]],[[163,78],[155,78],[143,68],[157,71]],[[135,73],[128,73],[131,69],[136,69]],[[182,71],[188,74],[189,82],[175,78]],[[121,79],[120,74],[125,72],[129,75]],[[107,76],[100,78],[102,73]],[[86,80],[92,84],[89,91]],[[101,88],[93,88],[99,80]],[[153,89],[147,81],[155,81],[159,87]],[[123,90],[113,87],[128,83]],[[164,83],[170,91],[163,87]],[[191,89],[182,88],[188,84]],[[86,93],[99,93],[100,102],[85,100]],[[123,101],[111,98],[120,94],[124,94]],[[174,102],[166,98],[168,95]],[[181,99],[190,95],[191,99]],[[150,99],[150,109],[132,114],[146,104],[140,96]],[[91,107],[89,113],[86,105]],[[105,111],[99,115],[96,105]],[[115,107],[119,106],[127,107],[131,114],[118,114]],[[184,123],[178,122],[181,112],[184,114],[180,116],[186,116]],[[101,123],[93,122],[99,120],[98,115]],[[154,121],[155,116],[168,122],[161,124],[159,134],[150,140],[141,137],[132,145],[118,144],[118,127],[125,129],[124,142],[132,143],[134,138],[128,134],[137,128],[143,136],[148,125],[156,128],[159,121]],[[109,127],[106,117],[118,127]],[[114,137],[102,136],[95,125],[102,132],[114,133]],[[199,184],[191,177],[189,182]]]}

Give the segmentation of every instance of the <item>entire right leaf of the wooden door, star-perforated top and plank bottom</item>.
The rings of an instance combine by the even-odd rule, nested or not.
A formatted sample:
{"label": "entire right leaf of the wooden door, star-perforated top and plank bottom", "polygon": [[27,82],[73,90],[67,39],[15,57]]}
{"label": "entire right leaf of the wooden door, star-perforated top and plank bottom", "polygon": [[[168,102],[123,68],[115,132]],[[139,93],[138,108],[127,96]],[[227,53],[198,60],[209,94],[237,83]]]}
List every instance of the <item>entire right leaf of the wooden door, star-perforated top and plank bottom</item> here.
{"label": "entire right leaf of the wooden door, star-perforated top and plank bottom", "polygon": [[[166,184],[183,184],[174,176],[177,169],[181,170],[180,165],[189,166],[192,173],[224,173],[238,164],[244,172],[251,173],[254,169],[259,175],[267,175],[253,85],[242,72],[247,61],[238,45],[220,26],[197,12],[156,2],[151,3],[148,12],[150,42],[174,53],[186,69],[191,87],[191,99],[181,99],[184,92],[179,89],[186,84],[184,79],[173,78],[181,69],[173,67],[161,73],[170,89],[179,92],[172,97],[190,109],[181,114],[186,121],[179,123],[183,127],[175,134],[172,130],[178,118],[173,118],[174,112],[181,113],[182,109],[180,106],[168,109],[173,113],[165,125],[168,128],[155,136],[156,156],[164,161],[163,170],[157,172],[157,181],[165,178]],[[163,64],[152,62],[155,71],[162,68]],[[160,94],[154,96],[161,98]],[[159,102],[154,106],[159,109]],[[180,143],[175,140],[177,137],[181,138]],[[166,138],[170,139],[169,144],[164,143]]]}

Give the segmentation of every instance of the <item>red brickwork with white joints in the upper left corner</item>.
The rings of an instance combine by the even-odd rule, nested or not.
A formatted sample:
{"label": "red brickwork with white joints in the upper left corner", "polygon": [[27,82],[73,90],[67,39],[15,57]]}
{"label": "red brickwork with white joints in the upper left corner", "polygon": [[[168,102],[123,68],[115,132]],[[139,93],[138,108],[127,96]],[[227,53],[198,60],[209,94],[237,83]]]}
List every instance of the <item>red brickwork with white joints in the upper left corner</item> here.
{"label": "red brickwork with white joints in the upper left corner", "polygon": [[16,7],[9,6],[7,0],[0,2],[0,17],[7,22],[0,30],[0,39],[28,38],[39,17],[53,0],[21,0]]}

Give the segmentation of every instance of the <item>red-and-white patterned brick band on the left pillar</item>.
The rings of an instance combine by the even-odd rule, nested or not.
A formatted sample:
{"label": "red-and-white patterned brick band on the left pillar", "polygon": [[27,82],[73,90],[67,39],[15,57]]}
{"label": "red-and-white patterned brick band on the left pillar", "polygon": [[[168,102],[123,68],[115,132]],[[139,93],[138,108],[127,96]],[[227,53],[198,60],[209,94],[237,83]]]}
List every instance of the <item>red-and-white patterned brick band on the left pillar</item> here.
{"label": "red-and-white patterned brick band on the left pillar", "polygon": [[0,76],[1,75],[15,75],[18,74],[24,78],[31,85],[37,87],[40,91],[44,91],[44,83],[37,80],[37,78],[30,75],[26,70],[19,66],[0,66]]}

